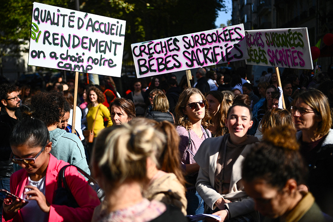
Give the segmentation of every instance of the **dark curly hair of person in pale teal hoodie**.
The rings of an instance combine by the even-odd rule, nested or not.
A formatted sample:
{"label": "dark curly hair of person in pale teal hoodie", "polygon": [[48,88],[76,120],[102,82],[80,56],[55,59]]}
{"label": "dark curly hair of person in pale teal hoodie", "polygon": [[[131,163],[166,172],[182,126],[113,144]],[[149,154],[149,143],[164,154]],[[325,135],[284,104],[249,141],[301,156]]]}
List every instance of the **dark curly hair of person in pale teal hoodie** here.
{"label": "dark curly hair of person in pale teal hoodie", "polygon": [[33,117],[46,123],[46,126],[57,124],[64,116],[64,106],[68,103],[62,93],[38,92],[31,98]]}

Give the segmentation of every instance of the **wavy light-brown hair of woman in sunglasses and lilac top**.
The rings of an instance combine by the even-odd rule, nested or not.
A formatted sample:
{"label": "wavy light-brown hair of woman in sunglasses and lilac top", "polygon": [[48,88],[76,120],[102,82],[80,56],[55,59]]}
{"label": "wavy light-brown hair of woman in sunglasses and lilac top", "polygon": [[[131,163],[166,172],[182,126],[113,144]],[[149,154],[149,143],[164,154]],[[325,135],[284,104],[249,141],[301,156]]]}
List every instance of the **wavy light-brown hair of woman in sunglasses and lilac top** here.
{"label": "wavy light-brown hair of woman in sunglasses and lilac top", "polygon": [[[185,107],[187,106],[188,100],[192,95],[199,94],[202,97],[202,100],[206,100],[206,97],[201,93],[200,90],[196,88],[186,88],[183,92],[179,95],[178,103],[175,108],[176,114],[176,123],[177,125],[181,125],[185,127],[186,130],[189,130],[192,127],[192,123],[187,118],[187,115],[184,114]],[[201,125],[204,128],[208,128],[210,126],[209,120],[211,119],[209,112],[208,112],[208,103],[206,102],[205,106],[205,116],[201,120]]]}

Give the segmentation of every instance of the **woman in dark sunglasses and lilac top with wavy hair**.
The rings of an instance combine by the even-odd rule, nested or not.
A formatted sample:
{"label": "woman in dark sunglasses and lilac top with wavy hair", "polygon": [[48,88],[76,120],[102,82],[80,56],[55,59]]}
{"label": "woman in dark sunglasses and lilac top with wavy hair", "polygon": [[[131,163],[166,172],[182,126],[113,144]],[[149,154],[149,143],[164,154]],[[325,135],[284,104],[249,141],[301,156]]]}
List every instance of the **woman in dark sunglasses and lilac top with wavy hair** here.
{"label": "woman in dark sunglasses and lilac top with wavy hair", "polygon": [[202,141],[211,137],[209,127],[210,115],[205,97],[196,88],[186,88],[180,94],[175,108],[176,130],[180,136],[179,151],[181,164],[187,181],[187,214],[203,213],[203,200],[196,192],[195,183],[199,165],[193,159]]}

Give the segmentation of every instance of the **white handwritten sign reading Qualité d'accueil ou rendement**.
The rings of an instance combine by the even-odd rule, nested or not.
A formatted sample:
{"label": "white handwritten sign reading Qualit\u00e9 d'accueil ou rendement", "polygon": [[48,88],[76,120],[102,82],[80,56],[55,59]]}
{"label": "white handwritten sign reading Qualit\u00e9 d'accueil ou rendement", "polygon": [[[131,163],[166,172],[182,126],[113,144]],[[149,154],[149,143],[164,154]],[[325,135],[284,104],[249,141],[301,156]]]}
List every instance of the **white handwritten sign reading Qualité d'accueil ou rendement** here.
{"label": "white handwritten sign reading Qualit\u00e9 d'accueil ou rendement", "polygon": [[121,76],[126,21],[34,2],[28,65]]}

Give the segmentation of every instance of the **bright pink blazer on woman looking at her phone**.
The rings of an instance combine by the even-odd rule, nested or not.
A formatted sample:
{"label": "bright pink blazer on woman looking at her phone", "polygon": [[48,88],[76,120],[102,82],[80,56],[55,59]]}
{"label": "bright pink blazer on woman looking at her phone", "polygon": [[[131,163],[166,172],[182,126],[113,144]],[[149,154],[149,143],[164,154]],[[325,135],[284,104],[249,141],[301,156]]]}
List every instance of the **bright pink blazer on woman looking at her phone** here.
{"label": "bright pink blazer on woman looking at her phone", "polygon": [[[51,203],[48,221],[90,222],[93,217],[95,207],[100,205],[101,202],[98,199],[96,192],[89,186],[85,178],[73,166],[65,170],[65,177],[68,187],[72,191],[72,194],[80,207],[72,208],[63,205],[52,204],[55,190],[58,188],[58,172],[65,165],[68,165],[68,163],[63,160],[58,160],[56,157],[50,154],[50,161],[47,167],[45,181],[45,197],[46,200]],[[10,192],[20,197],[23,193],[28,176],[29,175],[27,171],[24,169],[13,173],[10,177]],[[3,217],[2,221],[5,222]],[[23,222],[20,210],[14,216],[14,218],[8,221]]]}

